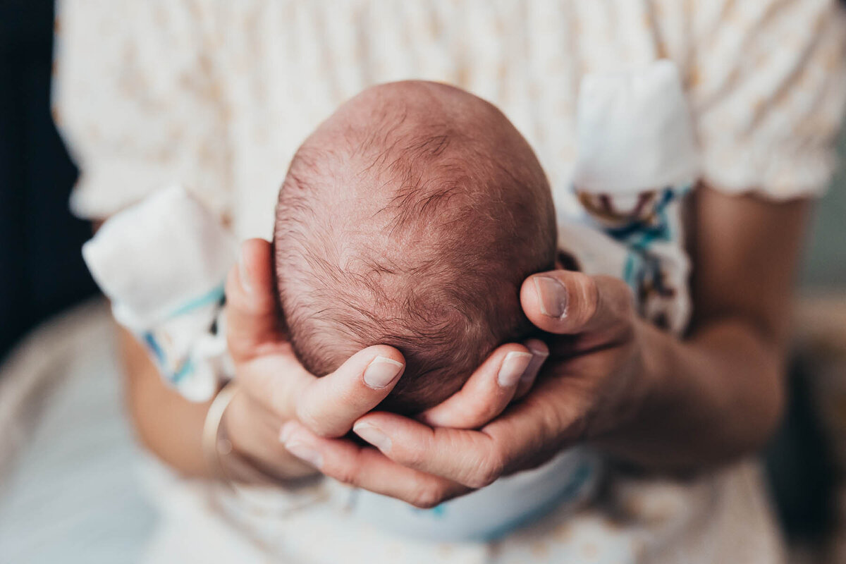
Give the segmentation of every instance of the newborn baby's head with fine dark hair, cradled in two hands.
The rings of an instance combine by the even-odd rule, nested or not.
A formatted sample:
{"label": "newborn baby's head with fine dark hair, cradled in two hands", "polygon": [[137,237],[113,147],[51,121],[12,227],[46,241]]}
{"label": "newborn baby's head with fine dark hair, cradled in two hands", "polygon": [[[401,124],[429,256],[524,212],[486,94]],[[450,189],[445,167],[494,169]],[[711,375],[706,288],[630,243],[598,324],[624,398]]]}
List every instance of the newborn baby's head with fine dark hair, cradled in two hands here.
{"label": "newborn baby's head with fine dark hair, cradled in two hands", "polygon": [[416,413],[530,332],[519,287],[552,267],[552,195],[496,107],[447,85],[381,85],[299,148],[273,243],[305,368],[326,375],[361,348],[392,345],[406,368],[381,408]]}

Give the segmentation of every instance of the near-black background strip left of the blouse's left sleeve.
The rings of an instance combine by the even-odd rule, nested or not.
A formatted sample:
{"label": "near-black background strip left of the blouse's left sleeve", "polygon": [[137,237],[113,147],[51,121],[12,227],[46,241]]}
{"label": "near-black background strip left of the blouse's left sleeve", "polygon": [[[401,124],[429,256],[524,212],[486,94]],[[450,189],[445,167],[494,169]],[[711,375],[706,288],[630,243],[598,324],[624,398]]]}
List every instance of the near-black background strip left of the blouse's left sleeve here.
{"label": "near-black background strip left of the blouse's left sleeve", "polygon": [[77,171],[50,115],[52,2],[0,0],[0,359],[32,326],[95,292],[70,215]]}

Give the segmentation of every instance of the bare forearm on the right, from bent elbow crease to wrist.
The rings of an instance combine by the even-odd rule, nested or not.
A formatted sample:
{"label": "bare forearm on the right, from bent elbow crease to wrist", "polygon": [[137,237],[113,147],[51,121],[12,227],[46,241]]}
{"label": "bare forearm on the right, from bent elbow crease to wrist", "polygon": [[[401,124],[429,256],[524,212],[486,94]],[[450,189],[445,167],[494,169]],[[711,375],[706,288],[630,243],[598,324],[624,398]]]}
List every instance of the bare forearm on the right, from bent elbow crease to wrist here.
{"label": "bare forearm on the right, from bent elbow crease to wrist", "polygon": [[684,471],[753,452],[784,404],[780,348],[742,318],[701,326],[678,341],[643,324],[643,401],[597,441],[632,463]]}

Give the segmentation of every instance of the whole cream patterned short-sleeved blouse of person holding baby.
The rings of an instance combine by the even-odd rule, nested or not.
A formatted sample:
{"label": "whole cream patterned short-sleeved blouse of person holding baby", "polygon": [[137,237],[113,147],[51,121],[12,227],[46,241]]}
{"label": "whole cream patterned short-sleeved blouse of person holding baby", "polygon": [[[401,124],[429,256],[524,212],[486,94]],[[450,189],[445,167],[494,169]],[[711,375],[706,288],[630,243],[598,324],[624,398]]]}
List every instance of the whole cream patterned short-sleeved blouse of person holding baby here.
{"label": "whole cream patterned short-sleeved blouse of person holding baby", "polygon": [[[846,101],[846,17],[833,0],[63,0],[56,25],[54,118],[81,171],[73,210],[106,217],[179,181],[241,238],[269,237],[296,147],[379,82],[441,80],[501,107],[535,148],[562,216],[576,205],[585,72],[673,59],[706,183],[774,199],[825,189]],[[185,491],[159,496],[195,507],[173,519],[182,529],[168,538],[179,542],[151,553],[162,561],[197,556],[179,553],[192,538],[203,561],[250,561],[255,542],[304,561],[782,558],[754,463],[687,483],[614,477],[602,503],[495,545],[409,545],[349,528],[327,542],[334,529],[319,516],[236,529],[206,504],[185,505]]]}

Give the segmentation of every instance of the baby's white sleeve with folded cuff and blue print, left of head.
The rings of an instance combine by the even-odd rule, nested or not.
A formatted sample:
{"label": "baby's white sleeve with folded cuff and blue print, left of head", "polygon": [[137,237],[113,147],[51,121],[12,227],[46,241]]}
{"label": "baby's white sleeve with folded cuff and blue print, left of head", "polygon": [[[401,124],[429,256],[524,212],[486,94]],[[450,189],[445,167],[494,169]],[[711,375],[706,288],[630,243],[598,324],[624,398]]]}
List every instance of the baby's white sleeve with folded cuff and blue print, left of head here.
{"label": "baby's white sleeve with folded cuff and blue print, left of head", "polygon": [[218,218],[174,185],[109,218],[82,256],[167,381],[208,400],[231,372],[221,312],[235,244]]}

